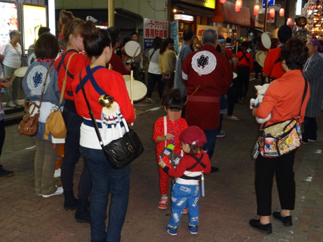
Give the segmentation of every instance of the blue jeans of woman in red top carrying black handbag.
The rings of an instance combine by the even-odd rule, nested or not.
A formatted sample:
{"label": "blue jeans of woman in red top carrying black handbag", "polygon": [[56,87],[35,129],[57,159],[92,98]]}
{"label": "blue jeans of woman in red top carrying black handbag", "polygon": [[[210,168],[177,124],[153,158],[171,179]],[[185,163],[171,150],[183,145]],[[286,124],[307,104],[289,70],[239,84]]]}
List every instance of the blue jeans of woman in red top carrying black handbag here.
{"label": "blue jeans of woman in red top carrying black handbag", "polygon": [[[103,150],[80,147],[91,173],[92,194],[90,197],[91,239],[118,242],[127,213],[130,191],[130,165],[114,169],[104,156]],[[106,209],[112,193],[109,225],[106,233]]]}

